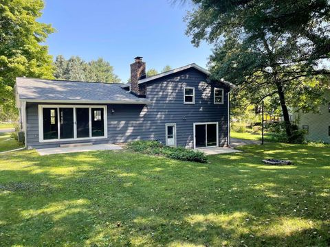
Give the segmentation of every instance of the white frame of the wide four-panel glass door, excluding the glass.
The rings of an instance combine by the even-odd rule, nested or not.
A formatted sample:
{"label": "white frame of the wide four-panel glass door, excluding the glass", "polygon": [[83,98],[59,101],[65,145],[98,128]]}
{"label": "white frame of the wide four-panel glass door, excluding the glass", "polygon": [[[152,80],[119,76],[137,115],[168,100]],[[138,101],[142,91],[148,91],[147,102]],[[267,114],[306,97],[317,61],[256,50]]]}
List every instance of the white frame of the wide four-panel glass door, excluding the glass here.
{"label": "white frame of the wide four-panel glass door, excluding the glass", "polygon": [[[58,124],[58,138],[44,140],[43,139],[43,108],[57,108],[57,124]],[[74,138],[60,139],[61,137],[61,128],[60,128],[60,108],[73,108],[74,110]],[[76,108],[89,108],[89,137],[77,137],[77,122],[76,122]],[[92,137],[91,136],[91,109],[92,108],[103,108],[104,113],[104,136],[103,137]],[[62,141],[80,141],[80,140],[91,140],[91,139],[104,139],[108,138],[108,124],[107,124],[107,106],[98,106],[98,105],[39,105],[38,106],[38,118],[39,118],[39,142],[62,142]]]}

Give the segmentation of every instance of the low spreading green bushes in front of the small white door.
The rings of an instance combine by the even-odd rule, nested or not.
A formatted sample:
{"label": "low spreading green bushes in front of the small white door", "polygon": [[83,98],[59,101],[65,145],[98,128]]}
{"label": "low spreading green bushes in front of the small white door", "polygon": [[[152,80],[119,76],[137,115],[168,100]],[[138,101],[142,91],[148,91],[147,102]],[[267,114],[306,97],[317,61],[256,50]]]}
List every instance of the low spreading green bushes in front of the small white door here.
{"label": "low spreading green bushes in front of the small white door", "polygon": [[168,147],[157,141],[132,141],[131,143],[128,143],[127,148],[144,154],[161,154],[168,158],[180,161],[195,161],[199,163],[207,162],[207,157],[203,152],[186,148]]}

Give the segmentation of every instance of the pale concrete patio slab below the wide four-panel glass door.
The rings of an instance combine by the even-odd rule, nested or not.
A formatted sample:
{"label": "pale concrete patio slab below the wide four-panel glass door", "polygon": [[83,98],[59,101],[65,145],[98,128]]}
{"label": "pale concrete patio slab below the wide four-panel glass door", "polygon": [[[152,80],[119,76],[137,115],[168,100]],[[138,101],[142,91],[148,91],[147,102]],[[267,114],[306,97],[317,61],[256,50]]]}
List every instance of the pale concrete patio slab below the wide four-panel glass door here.
{"label": "pale concrete patio slab below the wide four-panel glass door", "polygon": [[68,147],[68,148],[41,148],[36,149],[41,156],[49,154],[67,154],[72,152],[87,152],[87,151],[99,151],[99,150],[121,150],[119,145],[107,143],[98,145],[88,145],[81,147]]}

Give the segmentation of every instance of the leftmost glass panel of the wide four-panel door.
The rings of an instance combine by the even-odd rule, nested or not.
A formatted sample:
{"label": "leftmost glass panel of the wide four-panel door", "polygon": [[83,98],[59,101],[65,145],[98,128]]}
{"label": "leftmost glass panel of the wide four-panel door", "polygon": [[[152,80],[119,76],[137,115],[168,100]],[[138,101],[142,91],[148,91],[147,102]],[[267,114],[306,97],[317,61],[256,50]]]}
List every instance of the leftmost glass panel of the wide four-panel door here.
{"label": "leftmost glass panel of the wide four-panel door", "polygon": [[57,108],[43,108],[43,139],[58,139]]}

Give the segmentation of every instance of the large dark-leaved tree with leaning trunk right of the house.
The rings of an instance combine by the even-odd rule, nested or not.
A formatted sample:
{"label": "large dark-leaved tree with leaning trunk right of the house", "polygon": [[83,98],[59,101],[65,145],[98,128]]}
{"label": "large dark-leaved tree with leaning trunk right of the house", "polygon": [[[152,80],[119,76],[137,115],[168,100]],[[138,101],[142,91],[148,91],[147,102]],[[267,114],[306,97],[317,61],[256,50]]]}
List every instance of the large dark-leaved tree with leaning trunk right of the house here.
{"label": "large dark-leaved tree with leaning trunk right of the house", "polygon": [[214,44],[210,69],[214,78],[239,86],[259,102],[278,99],[288,137],[288,105],[297,99],[320,99],[318,75],[329,58],[330,3],[327,0],[192,0],[187,34],[192,43]]}

